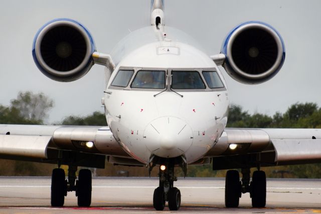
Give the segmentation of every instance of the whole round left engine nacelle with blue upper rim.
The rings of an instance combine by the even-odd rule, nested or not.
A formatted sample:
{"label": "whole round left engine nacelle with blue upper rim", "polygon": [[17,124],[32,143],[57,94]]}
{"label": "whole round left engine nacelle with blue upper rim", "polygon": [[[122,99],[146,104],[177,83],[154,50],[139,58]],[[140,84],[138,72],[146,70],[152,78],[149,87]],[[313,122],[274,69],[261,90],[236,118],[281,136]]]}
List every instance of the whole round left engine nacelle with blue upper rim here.
{"label": "whole round left engine nacelle with blue upper rim", "polygon": [[56,19],[36,34],[32,55],[40,71],[49,78],[70,82],[84,76],[94,64],[92,36],[80,23]]}

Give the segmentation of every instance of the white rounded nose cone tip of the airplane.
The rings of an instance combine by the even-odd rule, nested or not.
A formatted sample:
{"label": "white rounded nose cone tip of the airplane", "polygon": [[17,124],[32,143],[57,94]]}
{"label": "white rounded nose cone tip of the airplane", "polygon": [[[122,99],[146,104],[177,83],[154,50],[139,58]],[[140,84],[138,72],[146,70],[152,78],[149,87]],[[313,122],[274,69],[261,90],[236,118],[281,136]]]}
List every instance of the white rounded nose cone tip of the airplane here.
{"label": "white rounded nose cone tip of the airplane", "polygon": [[172,158],[184,154],[193,143],[193,131],[183,120],[161,117],[150,122],[145,131],[146,147],[159,157]]}

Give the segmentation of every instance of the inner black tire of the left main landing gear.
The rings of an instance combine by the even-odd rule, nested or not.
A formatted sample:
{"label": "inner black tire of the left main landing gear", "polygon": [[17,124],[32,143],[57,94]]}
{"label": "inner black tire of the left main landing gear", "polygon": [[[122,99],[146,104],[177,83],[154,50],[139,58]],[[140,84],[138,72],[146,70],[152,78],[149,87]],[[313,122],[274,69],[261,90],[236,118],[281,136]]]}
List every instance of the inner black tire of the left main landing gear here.
{"label": "inner black tire of the left main landing gear", "polygon": [[90,206],[91,204],[91,171],[89,169],[79,170],[77,180],[78,206]]}

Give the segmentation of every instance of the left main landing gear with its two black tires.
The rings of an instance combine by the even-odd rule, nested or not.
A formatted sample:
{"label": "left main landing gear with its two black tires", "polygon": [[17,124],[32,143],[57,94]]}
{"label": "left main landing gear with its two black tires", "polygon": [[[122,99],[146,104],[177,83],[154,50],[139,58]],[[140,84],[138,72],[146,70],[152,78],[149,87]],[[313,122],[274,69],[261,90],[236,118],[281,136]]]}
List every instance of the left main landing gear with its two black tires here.
{"label": "left main landing gear with its two black tires", "polygon": [[91,203],[91,171],[79,170],[76,177],[77,166],[69,166],[68,180],[65,179],[65,171],[56,168],[51,177],[51,205],[63,206],[68,191],[76,191],[78,206],[90,206]]}

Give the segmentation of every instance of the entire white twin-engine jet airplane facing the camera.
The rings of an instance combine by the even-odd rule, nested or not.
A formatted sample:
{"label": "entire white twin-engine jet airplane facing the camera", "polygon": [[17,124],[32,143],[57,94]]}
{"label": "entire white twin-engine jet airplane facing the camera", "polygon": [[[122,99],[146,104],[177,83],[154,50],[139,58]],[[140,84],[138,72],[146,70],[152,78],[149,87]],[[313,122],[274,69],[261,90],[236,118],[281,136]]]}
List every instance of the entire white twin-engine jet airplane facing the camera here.
{"label": "entire white twin-engine jet airplane facing the camera", "polygon": [[[184,32],[164,22],[164,1],[151,1],[150,26],[121,40],[112,53],[96,52],[89,31],[56,19],[36,34],[33,57],[56,81],[74,81],[96,63],[105,66],[104,105],[108,127],[0,125],[0,158],[68,165],[52,173],[51,205],[63,206],[76,191],[79,206],[91,204],[91,172],[110,163],[159,168],[153,206],[181,205],[175,167],[213,164],[226,174],[225,205],[237,207],[249,192],[253,207],[266,204],[261,166],[312,163],[321,159],[318,129],[228,129],[229,96],[219,69],[236,81],[257,84],[281,68],[280,34],[262,22],[235,27],[221,53],[208,56]],[[257,168],[250,179],[250,168]],[[239,171],[241,169],[242,179]]]}

